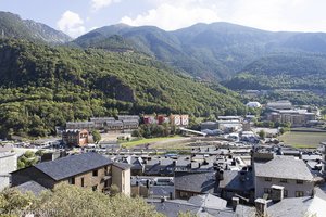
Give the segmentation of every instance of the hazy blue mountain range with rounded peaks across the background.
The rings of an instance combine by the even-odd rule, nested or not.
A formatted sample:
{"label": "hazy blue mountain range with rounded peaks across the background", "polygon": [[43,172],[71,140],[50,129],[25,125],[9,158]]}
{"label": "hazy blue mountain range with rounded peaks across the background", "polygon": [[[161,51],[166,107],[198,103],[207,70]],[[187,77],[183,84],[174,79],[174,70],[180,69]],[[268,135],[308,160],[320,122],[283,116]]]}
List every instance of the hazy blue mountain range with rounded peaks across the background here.
{"label": "hazy blue mountain range with rounded peaks across the background", "polygon": [[326,53],[326,34],[323,33],[274,33],[223,22],[196,24],[174,31],[117,24],[95,29],[73,43],[110,50],[110,42],[104,46],[104,41],[113,36],[121,37],[128,49],[208,80],[228,79],[269,54]]}

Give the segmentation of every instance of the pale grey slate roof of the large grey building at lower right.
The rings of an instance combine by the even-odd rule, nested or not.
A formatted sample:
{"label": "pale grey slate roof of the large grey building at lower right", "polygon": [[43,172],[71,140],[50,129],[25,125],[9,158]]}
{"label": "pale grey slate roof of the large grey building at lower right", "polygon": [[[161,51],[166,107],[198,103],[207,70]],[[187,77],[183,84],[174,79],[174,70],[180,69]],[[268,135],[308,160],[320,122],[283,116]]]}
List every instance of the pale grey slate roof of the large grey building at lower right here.
{"label": "pale grey slate roof of the large grey building at lower right", "polygon": [[313,180],[305,163],[293,156],[274,156],[266,163],[254,163],[254,169],[258,177]]}

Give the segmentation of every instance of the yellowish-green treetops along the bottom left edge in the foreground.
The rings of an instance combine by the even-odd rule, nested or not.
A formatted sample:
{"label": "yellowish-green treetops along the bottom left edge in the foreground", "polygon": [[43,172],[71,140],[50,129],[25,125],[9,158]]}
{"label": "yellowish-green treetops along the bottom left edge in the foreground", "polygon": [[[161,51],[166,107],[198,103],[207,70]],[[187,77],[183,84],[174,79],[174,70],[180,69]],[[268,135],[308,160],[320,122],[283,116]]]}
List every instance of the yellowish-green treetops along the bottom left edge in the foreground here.
{"label": "yellowish-green treetops along the bottom left edge in the foreground", "polygon": [[67,183],[55,186],[53,191],[43,191],[38,197],[30,193],[23,194],[14,188],[7,189],[0,193],[0,210],[4,215],[34,213],[36,216],[51,217],[163,217],[140,197],[131,199],[123,194],[108,196]]}

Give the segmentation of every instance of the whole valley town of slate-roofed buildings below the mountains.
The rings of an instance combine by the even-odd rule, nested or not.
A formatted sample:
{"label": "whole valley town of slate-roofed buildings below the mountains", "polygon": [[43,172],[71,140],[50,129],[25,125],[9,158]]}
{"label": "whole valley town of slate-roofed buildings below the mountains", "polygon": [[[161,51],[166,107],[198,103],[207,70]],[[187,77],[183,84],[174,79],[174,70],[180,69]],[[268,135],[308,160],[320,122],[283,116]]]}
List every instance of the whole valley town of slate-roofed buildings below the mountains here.
{"label": "whole valley town of slate-roofed buildings below the mountains", "polygon": [[[104,194],[116,188],[166,216],[325,215],[321,111],[290,101],[246,106],[246,116],[197,122],[187,114],[93,117],[58,127],[53,138],[3,140],[0,191],[38,195],[65,182]],[[319,140],[292,143],[309,135]]]}

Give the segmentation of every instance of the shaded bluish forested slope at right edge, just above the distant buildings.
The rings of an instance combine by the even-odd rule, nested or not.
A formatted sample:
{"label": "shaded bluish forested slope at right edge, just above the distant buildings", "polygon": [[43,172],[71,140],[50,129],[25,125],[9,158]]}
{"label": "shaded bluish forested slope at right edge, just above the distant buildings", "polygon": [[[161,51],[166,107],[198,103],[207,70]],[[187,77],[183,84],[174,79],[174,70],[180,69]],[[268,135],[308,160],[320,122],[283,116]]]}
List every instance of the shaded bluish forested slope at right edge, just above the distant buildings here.
{"label": "shaded bluish forested slope at right edge, just above the distant buildings", "polygon": [[[326,54],[284,53],[247,65],[228,88],[326,90]],[[326,93],[326,92],[325,92]]]}

